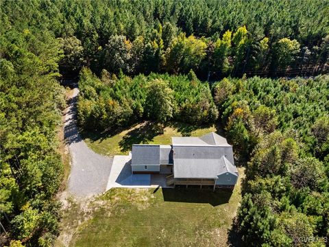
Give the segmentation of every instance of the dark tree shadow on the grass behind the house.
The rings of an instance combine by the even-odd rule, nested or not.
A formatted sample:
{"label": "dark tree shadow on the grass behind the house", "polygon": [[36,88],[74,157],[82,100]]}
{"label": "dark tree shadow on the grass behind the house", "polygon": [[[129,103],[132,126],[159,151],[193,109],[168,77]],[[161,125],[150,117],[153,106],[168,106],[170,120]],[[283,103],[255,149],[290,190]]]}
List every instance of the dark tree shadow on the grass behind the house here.
{"label": "dark tree shadow on the grass behind the house", "polygon": [[127,132],[123,139],[119,142],[119,147],[122,152],[132,149],[133,144],[145,144],[152,141],[154,137],[163,134],[164,126],[162,124],[146,121],[138,128],[134,128]]}

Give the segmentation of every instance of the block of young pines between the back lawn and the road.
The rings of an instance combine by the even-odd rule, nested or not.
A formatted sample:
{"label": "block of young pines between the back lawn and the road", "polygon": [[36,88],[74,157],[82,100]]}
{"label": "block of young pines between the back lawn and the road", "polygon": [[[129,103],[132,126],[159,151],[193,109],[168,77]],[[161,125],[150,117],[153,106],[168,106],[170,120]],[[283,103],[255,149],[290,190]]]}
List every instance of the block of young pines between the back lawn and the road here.
{"label": "block of young pines between the back lawn and the road", "polygon": [[190,124],[213,123],[218,117],[208,83],[195,73],[173,76],[151,73],[119,78],[103,70],[98,78],[90,69],[80,72],[77,119],[84,130],[115,130],[150,119]]}

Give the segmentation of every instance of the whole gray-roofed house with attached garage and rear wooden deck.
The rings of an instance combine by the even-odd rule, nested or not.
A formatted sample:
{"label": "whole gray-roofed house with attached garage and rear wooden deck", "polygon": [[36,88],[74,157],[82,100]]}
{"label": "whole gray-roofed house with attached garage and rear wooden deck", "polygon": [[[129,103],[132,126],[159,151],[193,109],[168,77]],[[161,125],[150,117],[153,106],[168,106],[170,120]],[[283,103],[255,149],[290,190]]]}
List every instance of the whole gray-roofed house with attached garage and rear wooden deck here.
{"label": "whole gray-roofed house with attached garage and rear wooden deck", "polygon": [[203,137],[172,137],[172,145],[132,145],[133,174],[169,174],[167,185],[234,188],[238,170],[232,145],[210,132]]}

